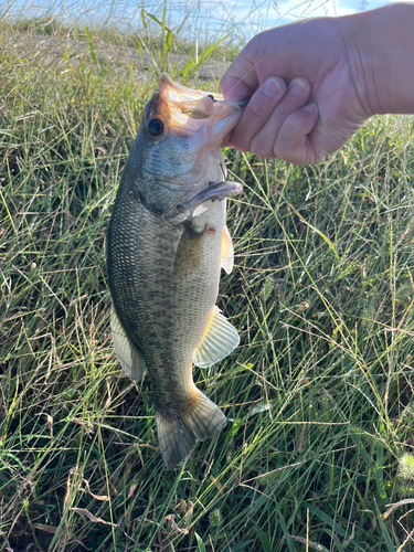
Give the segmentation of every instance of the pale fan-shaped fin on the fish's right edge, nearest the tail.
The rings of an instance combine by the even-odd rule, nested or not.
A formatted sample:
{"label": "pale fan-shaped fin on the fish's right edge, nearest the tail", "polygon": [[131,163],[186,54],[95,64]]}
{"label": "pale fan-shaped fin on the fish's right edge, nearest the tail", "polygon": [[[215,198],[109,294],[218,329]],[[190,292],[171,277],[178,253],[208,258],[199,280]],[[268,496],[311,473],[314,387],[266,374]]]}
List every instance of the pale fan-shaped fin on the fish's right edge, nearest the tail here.
{"label": "pale fan-shaped fin on the fish's right edge, nearest the tail", "polygon": [[237,330],[214,305],[208,327],[194,351],[193,362],[200,368],[211,367],[227,357],[238,343]]}

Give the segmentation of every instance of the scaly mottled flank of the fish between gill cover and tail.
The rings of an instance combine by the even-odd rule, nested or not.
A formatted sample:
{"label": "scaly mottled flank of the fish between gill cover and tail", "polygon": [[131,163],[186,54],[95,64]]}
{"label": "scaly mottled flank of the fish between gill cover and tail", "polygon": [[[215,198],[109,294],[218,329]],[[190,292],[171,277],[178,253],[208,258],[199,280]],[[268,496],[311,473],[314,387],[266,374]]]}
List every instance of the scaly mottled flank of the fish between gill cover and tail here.
{"label": "scaly mottled flank of the fish between gill cover and tail", "polygon": [[[128,182],[123,185],[128,185]],[[119,213],[121,203],[117,202],[114,209],[108,232],[112,252],[108,266],[116,297],[115,309],[131,341],[142,351],[151,378],[161,382],[167,378],[169,383],[181,385],[180,393],[174,391],[162,395],[163,403],[170,407],[188,401],[189,385],[182,384],[182,378],[178,380],[180,383],[177,382],[176,374],[181,373],[176,367],[191,363],[217,296],[225,204],[214,205],[215,217],[209,211],[210,224],[216,219],[221,225],[213,235],[203,236],[202,265],[181,278],[174,274],[173,259],[184,229],[159,221],[137,201],[130,201],[128,209],[123,205]],[[119,226],[130,229],[129,255],[121,254],[125,241],[118,237]],[[132,241],[130,236],[137,237]],[[129,285],[125,286],[125,282]],[[205,282],[209,282],[208,286]],[[156,390],[156,400],[158,394]]]}

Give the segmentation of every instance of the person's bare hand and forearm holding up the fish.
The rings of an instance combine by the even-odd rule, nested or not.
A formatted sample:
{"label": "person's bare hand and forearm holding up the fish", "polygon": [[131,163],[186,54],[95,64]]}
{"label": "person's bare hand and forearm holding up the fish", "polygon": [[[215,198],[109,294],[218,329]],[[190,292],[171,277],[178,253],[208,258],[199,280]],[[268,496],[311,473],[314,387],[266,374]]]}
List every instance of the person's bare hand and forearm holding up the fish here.
{"label": "person's bare hand and forearm holding up the fish", "polygon": [[252,96],[224,146],[321,162],[369,117],[414,114],[414,4],[265,31],[220,87],[226,99]]}

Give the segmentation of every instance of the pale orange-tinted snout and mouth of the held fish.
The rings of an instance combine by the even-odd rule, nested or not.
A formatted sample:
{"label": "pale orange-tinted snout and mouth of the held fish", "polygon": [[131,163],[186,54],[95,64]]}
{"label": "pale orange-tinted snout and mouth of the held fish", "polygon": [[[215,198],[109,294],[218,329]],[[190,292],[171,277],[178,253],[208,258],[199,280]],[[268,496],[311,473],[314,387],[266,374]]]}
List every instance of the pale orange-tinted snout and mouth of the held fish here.
{"label": "pale orange-tinted snout and mouth of the held fish", "polygon": [[247,102],[226,100],[222,94],[188,88],[162,73],[158,89],[147,104],[146,121],[148,126],[159,119],[166,130],[179,138],[199,135],[204,147],[213,149],[236,125]]}

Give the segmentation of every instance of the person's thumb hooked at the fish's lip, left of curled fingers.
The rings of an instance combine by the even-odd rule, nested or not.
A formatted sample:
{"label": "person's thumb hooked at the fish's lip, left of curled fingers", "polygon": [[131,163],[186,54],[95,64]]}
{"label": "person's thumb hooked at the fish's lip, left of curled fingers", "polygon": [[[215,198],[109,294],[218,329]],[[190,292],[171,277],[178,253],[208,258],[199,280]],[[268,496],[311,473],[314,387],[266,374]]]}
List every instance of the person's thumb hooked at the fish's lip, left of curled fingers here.
{"label": "person's thumb hooked at the fish's lip, left of curled fingers", "polygon": [[225,99],[244,99],[257,89],[259,83],[247,44],[232,62],[220,81],[220,89]]}

